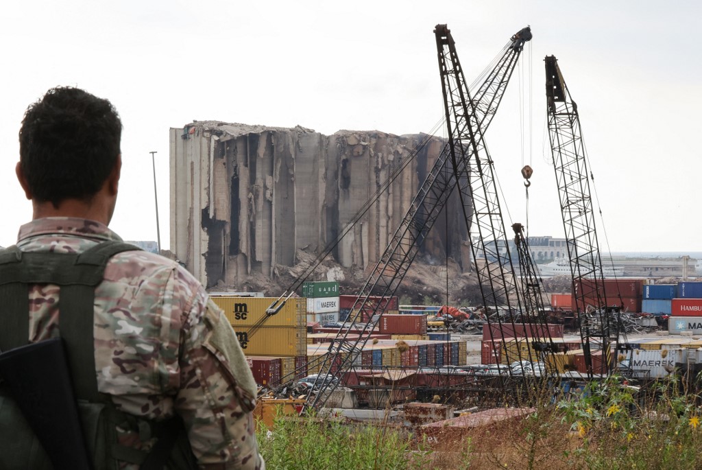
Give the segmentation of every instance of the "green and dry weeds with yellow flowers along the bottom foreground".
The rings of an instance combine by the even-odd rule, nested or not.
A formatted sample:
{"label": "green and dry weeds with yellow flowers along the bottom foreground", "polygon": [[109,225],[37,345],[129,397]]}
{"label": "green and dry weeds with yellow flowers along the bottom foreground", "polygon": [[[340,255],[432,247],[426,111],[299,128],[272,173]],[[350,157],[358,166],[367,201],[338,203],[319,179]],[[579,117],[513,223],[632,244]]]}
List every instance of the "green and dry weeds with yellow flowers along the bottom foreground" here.
{"label": "green and dry weeds with yellow flowers along the bottom foreground", "polygon": [[258,439],[272,469],[701,468],[702,407],[678,381],[644,397],[614,378],[542,401],[520,418],[473,429],[278,417]]}

